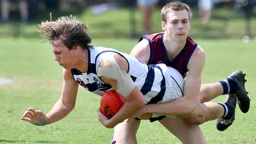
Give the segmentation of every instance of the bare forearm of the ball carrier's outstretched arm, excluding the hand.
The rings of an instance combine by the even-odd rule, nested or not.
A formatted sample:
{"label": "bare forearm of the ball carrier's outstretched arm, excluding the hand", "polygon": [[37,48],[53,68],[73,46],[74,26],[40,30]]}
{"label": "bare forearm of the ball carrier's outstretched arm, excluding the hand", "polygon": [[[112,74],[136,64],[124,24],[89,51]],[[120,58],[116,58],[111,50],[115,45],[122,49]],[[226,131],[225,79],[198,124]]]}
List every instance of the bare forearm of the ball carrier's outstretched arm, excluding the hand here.
{"label": "bare forearm of the ball carrier's outstretched arm, excluding the hand", "polygon": [[46,114],[48,117],[47,124],[52,124],[65,118],[73,108],[66,107],[61,100],[58,100],[52,110]]}

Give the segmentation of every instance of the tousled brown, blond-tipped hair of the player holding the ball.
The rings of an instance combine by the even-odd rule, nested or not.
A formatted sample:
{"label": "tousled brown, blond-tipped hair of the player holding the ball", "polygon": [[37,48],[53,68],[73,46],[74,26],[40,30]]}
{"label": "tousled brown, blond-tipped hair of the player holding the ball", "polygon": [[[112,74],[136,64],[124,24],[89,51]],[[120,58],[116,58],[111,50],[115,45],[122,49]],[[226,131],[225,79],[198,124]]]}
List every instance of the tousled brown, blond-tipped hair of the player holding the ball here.
{"label": "tousled brown, blond-tipped hair of the player holding the ball", "polygon": [[88,49],[88,44],[91,43],[91,37],[87,34],[88,25],[72,15],[59,17],[53,22],[52,20],[50,22],[46,20],[38,25],[39,31],[43,33],[41,37],[48,39],[52,44],[54,39],[61,38],[63,44],[69,49],[72,49],[74,44],[78,44],[83,49]]}

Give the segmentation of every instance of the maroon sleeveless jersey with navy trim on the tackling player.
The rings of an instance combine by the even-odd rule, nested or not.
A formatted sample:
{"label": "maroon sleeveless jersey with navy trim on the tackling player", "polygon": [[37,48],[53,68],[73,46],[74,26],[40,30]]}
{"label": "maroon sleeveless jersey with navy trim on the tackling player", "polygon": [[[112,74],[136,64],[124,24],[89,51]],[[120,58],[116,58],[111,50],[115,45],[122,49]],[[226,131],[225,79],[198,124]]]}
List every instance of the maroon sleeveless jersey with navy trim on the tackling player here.
{"label": "maroon sleeveless jersey with navy trim on the tackling player", "polygon": [[156,65],[158,63],[164,63],[167,66],[171,66],[178,70],[183,78],[187,76],[187,64],[191,55],[193,54],[195,48],[197,48],[197,43],[194,42],[190,37],[186,39],[186,45],[182,51],[170,61],[165,46],[163,44],[164,33],[154,33],[151,35],[143,36],[139,39],[139,42],[143,39],[147,39],[150,46],[150,57],[147,65]]}

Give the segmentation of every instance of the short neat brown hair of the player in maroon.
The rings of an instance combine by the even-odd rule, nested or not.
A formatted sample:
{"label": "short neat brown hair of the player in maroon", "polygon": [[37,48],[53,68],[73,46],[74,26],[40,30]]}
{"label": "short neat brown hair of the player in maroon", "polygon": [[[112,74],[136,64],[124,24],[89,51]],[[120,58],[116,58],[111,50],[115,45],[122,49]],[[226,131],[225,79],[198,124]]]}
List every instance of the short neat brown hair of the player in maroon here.
{"label": "short neat brown hair of the player in maroon", "polygon": [[163,8],[161,9],[161,17],[162,17],[163,22],[166,22],[167,14],[171,10],[173,10],[173,11],[187,10],[189,20],[190,20],[190,8],[189,8],[189,6],[187,6],[186,4],[184,4],[182,2],[171,2],[171,3],[166,4],[165,6],[163,6]]}

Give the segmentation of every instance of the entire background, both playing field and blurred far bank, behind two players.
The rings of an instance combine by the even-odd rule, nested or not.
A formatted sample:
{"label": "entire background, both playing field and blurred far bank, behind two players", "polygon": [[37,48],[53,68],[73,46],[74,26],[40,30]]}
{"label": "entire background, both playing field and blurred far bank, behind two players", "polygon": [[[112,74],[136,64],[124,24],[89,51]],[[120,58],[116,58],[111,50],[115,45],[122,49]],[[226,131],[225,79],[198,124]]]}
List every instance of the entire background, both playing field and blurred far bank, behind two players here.
{"label": "entire background, both playing field and blurred far bank, behind two players", "polygon": [[[100,96],[80,87],[76,108],[44,127],[20,117],[34,107],[47,113],[59,99],[62,67],[51,44],[37,32],[41,21],[70,14],[89,25],[92,44],[130,54],[142,35],[161,29],[161,8],[173,0],[0,0],[0,143],[103,144],[113,129],[98,122]],[[255,144],[256,0],[180,0],[191,7],[189,35],[206,53],[202,83],[213,83],[235,70],[247,74],[249,113],[236,109],[236,121],[219,132],[216,121],[200,125],[209,144]],[[224,102],[226,96],[214,99]],[[150,125],[149,125],[150,124]],[[154,131],[152,133],[152,131]],[[158,135],[155,135],[158,133]],[[141,122],[139,144],[180,144],[160,123]]]}

